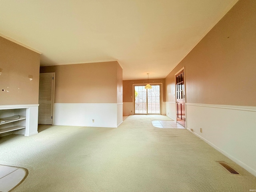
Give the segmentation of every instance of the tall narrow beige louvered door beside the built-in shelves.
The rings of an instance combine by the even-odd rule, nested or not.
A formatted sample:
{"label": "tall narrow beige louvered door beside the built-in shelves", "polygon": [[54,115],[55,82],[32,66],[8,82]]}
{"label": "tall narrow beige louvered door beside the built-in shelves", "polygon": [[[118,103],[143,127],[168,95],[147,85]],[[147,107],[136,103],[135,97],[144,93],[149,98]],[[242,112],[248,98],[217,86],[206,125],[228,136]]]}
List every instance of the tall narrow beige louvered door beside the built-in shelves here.
{"label": "tall narrow beige louvered door beside the built-in shelves", "polygon": [[38,124],[52,125],[55,73],[40,73]]}

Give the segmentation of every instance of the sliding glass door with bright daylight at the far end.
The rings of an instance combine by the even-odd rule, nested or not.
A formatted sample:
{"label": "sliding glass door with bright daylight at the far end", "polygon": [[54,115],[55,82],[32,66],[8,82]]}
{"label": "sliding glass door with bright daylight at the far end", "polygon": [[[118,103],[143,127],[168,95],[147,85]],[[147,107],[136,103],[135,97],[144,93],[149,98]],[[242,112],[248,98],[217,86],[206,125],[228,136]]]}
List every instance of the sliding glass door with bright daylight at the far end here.
{"label": "sliding glass door with bright daylight at the far end", "polygon": [[161,85],[134,85],[134,114],[161,114]]}

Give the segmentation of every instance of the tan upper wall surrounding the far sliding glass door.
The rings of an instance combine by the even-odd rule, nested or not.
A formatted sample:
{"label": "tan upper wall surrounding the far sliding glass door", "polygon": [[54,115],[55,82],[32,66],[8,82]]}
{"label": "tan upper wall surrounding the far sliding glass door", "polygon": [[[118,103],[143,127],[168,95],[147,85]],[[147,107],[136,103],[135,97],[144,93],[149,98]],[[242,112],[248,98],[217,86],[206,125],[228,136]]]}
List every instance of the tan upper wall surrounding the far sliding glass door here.
{"label": "tan upper wall surrounding the far sliding glass door", "polygon": [[143,84],[147,83],[162,83],[162,91],[163,91],[163,102],[165,102],[165,79],[140,79],[140,80],[124,80],[123,81],[123,101],[124,102],[132,102],[132,84]]}

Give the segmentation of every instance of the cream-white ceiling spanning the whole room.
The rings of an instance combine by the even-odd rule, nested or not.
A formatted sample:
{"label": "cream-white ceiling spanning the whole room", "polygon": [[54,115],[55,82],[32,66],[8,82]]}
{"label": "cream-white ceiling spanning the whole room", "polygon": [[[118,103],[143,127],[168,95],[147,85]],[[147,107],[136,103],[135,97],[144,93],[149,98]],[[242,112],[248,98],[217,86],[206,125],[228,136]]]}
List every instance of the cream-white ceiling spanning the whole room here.
{"label": "cream-white ceiling spanning the whole room", "polygon": [[237,0],[0,0],[0,33],[41,66],[117,60],[123,79],[165,78]]}

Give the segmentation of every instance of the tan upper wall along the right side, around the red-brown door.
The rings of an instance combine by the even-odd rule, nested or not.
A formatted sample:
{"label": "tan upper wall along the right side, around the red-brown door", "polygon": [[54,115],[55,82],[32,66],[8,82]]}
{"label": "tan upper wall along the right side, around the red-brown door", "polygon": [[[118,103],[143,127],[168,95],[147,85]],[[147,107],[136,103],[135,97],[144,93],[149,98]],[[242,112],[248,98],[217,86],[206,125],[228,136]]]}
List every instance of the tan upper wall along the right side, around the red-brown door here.
{"label": "tan upper wall along the right side, around the red-brown door", "polygon": [[186,102],[256,106],[256,1],[240,0],[166,77],[185,66]]}

